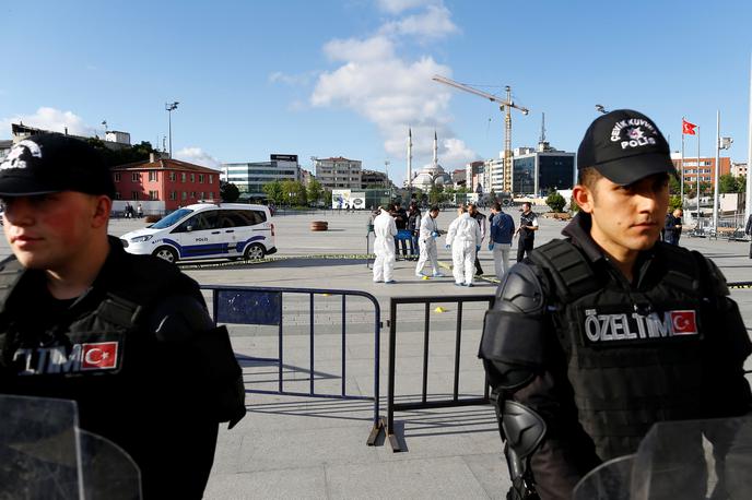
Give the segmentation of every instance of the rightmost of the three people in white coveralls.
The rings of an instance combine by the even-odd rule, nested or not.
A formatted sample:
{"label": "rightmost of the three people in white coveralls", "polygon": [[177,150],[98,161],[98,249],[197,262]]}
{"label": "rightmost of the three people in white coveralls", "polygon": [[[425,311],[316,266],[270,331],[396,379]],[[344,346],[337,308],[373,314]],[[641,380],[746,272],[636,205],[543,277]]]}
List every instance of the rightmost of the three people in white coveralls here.
{"label": "rightmost of the three people in white coveralls", "polygon": [[451,274],[455,285],[472,286],[475,252],[481,246],[481,227],[468,213],[467,206],[457,210],[459,216],[451,222],[447,231],[446,248],[451,248]]}

